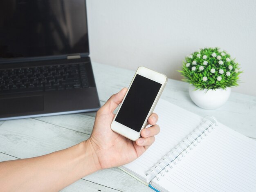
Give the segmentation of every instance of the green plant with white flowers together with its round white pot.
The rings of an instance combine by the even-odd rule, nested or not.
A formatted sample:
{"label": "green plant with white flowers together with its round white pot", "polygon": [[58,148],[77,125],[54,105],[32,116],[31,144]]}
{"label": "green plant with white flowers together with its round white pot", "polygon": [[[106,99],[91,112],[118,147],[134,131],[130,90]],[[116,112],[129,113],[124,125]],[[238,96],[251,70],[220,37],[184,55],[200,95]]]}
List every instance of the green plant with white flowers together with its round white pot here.
{"label": "green plant with white flowers together with its round white pot", "polygon": [[229,98],[230,87],[238,86],[239,64],[224,50],[204,48],[186,56],[179,72],[191,84],[189,95],[203,109],[216,109]]}

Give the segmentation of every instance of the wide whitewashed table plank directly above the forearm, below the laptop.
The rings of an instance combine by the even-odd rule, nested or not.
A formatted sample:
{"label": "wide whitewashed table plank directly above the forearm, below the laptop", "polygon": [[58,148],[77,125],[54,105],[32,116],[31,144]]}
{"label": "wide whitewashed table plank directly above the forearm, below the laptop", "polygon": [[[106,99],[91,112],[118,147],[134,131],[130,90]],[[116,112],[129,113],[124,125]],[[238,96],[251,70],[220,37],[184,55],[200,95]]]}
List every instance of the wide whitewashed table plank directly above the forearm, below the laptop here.
{"label": "wide whitewashed table plank directly above the forearm, below the laptop", "polygon": [[62,150],[89,138],[89,135],[34,120],[5,121],[0,126],[0,152],[28,158]]}

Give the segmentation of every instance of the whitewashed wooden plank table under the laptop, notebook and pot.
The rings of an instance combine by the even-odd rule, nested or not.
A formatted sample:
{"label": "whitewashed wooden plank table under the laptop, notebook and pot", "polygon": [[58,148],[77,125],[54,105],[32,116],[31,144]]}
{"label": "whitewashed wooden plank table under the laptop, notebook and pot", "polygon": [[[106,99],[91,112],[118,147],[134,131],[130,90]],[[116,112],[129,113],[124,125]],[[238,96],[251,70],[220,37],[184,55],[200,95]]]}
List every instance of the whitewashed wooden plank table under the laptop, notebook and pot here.
{"label": "whitewashed wooden plank table under the laptop, notebook and pot", "polygon": [[[128,87],[135,71],[93,63],[101,105]],[[205,116],[256,140],[256,97],[231,92],[227,103],[216,110],[197,107],[189,98],[187,83],[169,79],[164,100]],[[0,161],[23,159],[61,150],[89,138],[95,112],[0,121]],[[161,117],[160,117],[161,118]],[[1,171],[1,170],[0,170]],[[118,168],[95,172],[62,191],[153,191]]]}

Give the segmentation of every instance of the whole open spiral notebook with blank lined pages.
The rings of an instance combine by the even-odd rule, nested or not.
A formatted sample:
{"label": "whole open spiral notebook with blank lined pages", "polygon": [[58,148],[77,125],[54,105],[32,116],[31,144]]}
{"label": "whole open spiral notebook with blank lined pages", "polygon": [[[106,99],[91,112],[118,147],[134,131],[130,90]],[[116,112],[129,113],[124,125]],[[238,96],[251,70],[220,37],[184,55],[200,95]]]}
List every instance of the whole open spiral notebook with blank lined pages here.
{"label": "whole open spiral notebook with blank lined pages", "polygon": [[160,99],[161,132],[119,167],[155,191],[256,191],[256,141]]}

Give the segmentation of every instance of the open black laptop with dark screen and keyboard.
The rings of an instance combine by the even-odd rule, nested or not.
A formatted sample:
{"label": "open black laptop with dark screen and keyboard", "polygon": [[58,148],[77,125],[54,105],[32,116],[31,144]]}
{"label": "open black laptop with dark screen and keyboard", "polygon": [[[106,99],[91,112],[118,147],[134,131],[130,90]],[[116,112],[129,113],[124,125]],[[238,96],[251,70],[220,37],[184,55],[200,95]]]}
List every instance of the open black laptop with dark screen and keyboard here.
{"label": "open black laptop with dark screen and keyboard", "polygon": [[99,107],[85,0],[1,0],[0,120]]}

